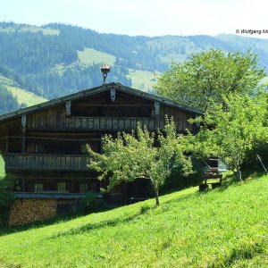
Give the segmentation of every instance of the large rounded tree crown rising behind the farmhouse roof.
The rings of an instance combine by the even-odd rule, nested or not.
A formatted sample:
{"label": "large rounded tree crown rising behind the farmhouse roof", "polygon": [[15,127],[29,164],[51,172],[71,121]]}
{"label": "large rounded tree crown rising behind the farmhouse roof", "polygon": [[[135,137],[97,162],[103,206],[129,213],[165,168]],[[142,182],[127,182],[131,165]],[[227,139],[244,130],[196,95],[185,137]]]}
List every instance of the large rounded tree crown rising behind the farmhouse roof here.
{"label": "large rounded tree crown rising behind the farmhouse roof", "polygon": [[264,70],[257,67],[256,54],[210,49],[193,54],[184,63],[173,62],[158,78],[155,90],[206,111],[214,103],[222,104],[222,96],[231,92],[253,94],[264,76]]}

